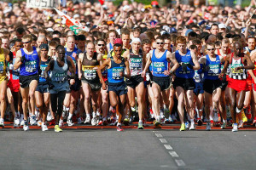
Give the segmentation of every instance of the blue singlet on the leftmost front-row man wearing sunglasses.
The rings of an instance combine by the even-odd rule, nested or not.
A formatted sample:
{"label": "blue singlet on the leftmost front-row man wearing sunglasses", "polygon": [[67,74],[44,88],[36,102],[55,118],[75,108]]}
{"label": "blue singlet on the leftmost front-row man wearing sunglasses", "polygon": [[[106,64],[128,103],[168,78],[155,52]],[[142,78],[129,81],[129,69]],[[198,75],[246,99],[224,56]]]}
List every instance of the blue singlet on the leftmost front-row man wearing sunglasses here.
{"label": "blue singlet on the leftmost front-row man wearing sunglasses", "polygon": [[21,56],[25,55],[25,62],[20,65],[20,76],[31,76],[38,74],[39,57],[36,47],[32,54],[26,54],[23,48],[20,48]]}

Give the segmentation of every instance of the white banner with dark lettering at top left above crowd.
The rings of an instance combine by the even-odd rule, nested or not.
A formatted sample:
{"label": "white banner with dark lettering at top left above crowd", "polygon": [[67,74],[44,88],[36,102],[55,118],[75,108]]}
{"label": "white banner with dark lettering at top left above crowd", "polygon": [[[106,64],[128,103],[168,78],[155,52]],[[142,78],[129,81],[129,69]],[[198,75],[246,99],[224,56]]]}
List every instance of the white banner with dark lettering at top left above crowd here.
{"label": "white banner with dark lettering at top left above crowd", "polygon": [[55,0],[26,0],[27,8],[54,8]]}

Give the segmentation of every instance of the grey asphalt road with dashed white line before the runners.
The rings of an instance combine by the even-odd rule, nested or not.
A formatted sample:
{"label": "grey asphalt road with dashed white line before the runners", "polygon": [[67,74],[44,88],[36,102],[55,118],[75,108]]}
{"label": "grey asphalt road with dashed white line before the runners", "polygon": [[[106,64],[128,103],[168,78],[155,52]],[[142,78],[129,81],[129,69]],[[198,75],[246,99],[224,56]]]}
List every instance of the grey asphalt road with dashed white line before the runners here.
{"label": "grey asphalt road with dashed white line before the runners", "polygon": [[0,169],[254,169],[256,131],[0,129]]}

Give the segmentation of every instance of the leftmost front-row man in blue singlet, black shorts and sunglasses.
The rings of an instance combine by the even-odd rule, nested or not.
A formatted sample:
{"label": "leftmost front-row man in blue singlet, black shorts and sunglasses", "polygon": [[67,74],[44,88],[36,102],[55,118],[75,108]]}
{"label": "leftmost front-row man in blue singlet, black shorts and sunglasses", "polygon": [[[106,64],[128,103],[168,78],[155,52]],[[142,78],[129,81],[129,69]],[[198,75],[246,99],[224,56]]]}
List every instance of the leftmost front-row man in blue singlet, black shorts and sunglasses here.
{"label": "leftmost front-row man in blue singlet, black shorts and sunglasses", "polygon": [[22,109],[24,114],[24,131],[29,130],[28,127],[28,102],[32,109],[32,125],[36,125],[35,116],[35,91],[38,87],[38,67],[39,67],[39,56],[37,48],[32,47],[32,36],[26,35],[22,37],[22,43],[24,48],[16,54],[16,60],[14,68],[15,70],[20,68],[20,93],[22,96]]}

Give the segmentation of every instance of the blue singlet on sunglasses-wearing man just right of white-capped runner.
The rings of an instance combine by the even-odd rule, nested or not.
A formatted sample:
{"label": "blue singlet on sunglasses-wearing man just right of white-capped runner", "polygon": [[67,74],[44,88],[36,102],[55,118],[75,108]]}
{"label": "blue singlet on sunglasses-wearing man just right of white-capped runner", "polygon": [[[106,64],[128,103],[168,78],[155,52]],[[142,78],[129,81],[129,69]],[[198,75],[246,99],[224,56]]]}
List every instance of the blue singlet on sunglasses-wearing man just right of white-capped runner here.
{"label": "blue singlet on sunglasses-wearing man just right of white-capped runner", "polygon": [[154,77],[169,77],[164,74],[164,71],[168,71],[168,61],[166,59],[166,53],[168,50],[165,51],[165,53],[158,59],[156,58],[153,50],[153,55],[151,58],[152,62],[152,75]]}

